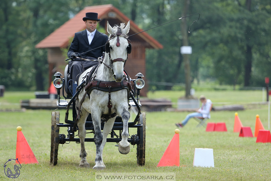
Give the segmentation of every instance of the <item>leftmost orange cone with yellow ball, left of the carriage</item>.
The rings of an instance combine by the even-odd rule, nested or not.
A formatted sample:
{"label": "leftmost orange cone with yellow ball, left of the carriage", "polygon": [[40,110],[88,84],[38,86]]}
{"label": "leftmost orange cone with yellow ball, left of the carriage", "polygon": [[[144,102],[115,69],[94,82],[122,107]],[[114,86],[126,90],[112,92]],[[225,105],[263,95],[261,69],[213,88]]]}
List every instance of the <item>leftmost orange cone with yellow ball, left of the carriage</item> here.
{"label": "leftmost orange cone with yellow ball, left of the carriage", "polygon": [[[33,151],[31,150],[29,144],[27,143],[22,128],[20,126],[17,127],[17,144],[16,144],[16,158],[20,164],[38,164],[38,160],[36,159]],[[16,164],[18,162],[16,160]]]}

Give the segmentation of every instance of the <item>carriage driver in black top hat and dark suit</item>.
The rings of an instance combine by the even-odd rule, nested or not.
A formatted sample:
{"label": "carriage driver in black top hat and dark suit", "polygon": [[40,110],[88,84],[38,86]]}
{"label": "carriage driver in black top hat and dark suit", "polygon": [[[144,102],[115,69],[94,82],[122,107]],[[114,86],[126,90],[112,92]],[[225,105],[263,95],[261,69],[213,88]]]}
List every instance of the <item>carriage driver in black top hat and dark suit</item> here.
{"label": "carriage driver in black top hat and dark suit", "polygon": [[[107,42],[108,36],[96,30],[97,23],[100,20],[101,19],[98,19],[98,13],[86,13],[86,17],[83,17],[83,21],[85,21],[86,24],[86,30],[75,33],[73,41],[70,44],[70,49],[67,53],[69,58],[73,57],[71,61],[69,61],[70,79],[76,81],[76,83],[78,83],[79,74],[84,70],[97,65],[98,57],[102,57],[103,52],[105,52],[105,46],[103,45]],[[102,47],[97,48],[99,46]],[[92,49],[95,50],[80,56],[81,53]],[[76,56],[96,61],[81,60],[75,58]]]}

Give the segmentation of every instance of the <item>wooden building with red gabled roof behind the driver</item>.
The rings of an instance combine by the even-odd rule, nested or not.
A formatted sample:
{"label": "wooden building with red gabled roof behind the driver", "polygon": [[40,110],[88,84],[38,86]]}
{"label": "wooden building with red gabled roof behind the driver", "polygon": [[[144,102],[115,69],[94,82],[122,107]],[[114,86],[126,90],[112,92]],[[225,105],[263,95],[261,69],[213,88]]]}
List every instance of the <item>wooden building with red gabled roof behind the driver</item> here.
{"label": "wooden building with red gabled roof behind the driver", "polygon": [[[86,25],[82,18],[85,17],[87,12],[98,13],[98,18],[101,19],[101,21],[99,21],[99,25],[104,27],[105,30],[107,29],[107,21],[112,26],[120,23],[127,24],[130,20],[111,4],[88,6],[76,14],[72,19],[64,23],[61,27],[56,29],[48,37],[39,42],[36,45],[36,48],[48,49],[49,83],[51,83],[52,76],[56,71],[59,71],[64,75],[64,68],[68,62],[65,62],[67,57],[62,54],[61,49],[68,47],[70,40],[74,37],[74,33],[86,29]],[[143,30],[140,29],[133,21],[130,22],[129,35],[139,33],[141,31]],[[143,75],[146,74],[145,49],[162,49],[163,46],[146,32],[129,37],[129,40],[131,40],[132,43],[132,53],[128,56],[125,70],[131,78],[136,78],[135,75],[138,72],[141,72]],[[146,92],[147,89],[143,89],[142,95],[146,95]]]}

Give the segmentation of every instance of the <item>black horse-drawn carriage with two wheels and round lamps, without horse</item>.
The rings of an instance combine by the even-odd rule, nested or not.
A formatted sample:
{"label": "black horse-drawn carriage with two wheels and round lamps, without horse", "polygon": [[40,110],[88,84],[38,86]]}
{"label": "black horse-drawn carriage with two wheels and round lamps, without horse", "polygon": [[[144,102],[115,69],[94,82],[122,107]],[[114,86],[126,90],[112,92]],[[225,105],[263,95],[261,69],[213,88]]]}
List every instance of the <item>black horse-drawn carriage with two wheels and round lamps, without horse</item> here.
{"label": "black horse-drawn carriage with two wheels and round lamps, without horse", "polygon": [[[72,86],[73,87],[72,88],[73,94],[71,94],[71,91],[70,91],[71,86],[69,86],[69,84],[68,84],[69,82],[66,81],[68,79],[67,73],[69,72],[68,66],[69,65],[67,65],[65,68],[64,78],[61,78],[62,75],[59,72],[57,72],[55,74],[56,79],[60,78],[63,83],[63,86],[64,86],[62,89],[63,97],[65,99],[70,99],[70,102],[67,104],[67,107],[66,107],[66,114],[65,114],[65,121],[64,121],[65,124],[59,122],[59,117],[60,117],[59,112],[57,112],[57,111],[52,112],[50,163],[53,165],[57,165],[57,163],[58,163],[58,146],[59,146],[59,144],[65,144],[67,142],[70,143],[71,141],[74,141],[76,143],[80,143],[80,139],[75,138],[75,136],[77,136],[77,135],[75,135],[75,132],[78,130],[78,127],[76,126],[76,129],[73,129],[73,127],[74,127],[75,120],[77,117],[75,99],[76,99],[77,95],[79,94],[80,87],[83,86],[84,81],[79,86],[77,86],[77,84],[73,84],[73,86]],[[138,79],[142,80],[142,77],[144,77],[144,76],[141,73],[138,73],[136,76],[137,76],[137,79],[131,79],[131,81],[133,82],[133,85],[134,85],[134,91],[129,93],[130,94],[129,101],[131,101],[131,100],[133,101],[133,103],[134,103],[133,105],[136,106],[138,109],[138,114],[133,122],[128,122],[128,132],[129,132],[129,128],[136,128],[137,134],[130,135],[130,138],[128,138],[127,141],[132,145],[137,145],[137,151],[136,151],[137,164],[139,166],[144,166],[145,165],[146,114],[141,113],[140,102],[139,102],[140,90],[143,87],[142,88],[136,87],[136,80],[138,80]],[[56,87],[56,88],[57,88],[57,93],[58,93],[57,105],[60,107],[64,107],[64,105],[61,105],[61,103],[60,103],[61,102],[60,99],[62,99],[60,97],[60,90],[61,90],[62,86],[60,88],[59,87]],[[67,97],[64,96],[64,89],[67,93]],[[134,92],[137,93],[137,98],[135,98]],[[68,119],[70,106],[72,106],[73,120]],[[131,108],[131,105],[129,104],[129,109],[130,108]],[[59,134],[60,127],[67,127],[68,134],[67,135]],[[104,122],[103,122],[103,119],[101,119],[101,130],[103,130],[103,127],[104,127]],[[92,131],[92,132],[87,132],[87,133],[95,134],[91,114],[89,114],[89,116],[86,120],[85,128],[86,128],[86,130]],[[113,128],[111,130],[111,133],[110,133],[111,138],[107,138],[106,142],[116,142],[118,144],[122,139],[122,137],[121,137],[122,130],[123,130],[122,118],[117,116],[115,119]],[[117,135],[115,131],[119,131],[119,135]],[[94,138],[85,138],[85,142],[94,142]],[[116,145],[116,146],[118,146],[118,145]]]}

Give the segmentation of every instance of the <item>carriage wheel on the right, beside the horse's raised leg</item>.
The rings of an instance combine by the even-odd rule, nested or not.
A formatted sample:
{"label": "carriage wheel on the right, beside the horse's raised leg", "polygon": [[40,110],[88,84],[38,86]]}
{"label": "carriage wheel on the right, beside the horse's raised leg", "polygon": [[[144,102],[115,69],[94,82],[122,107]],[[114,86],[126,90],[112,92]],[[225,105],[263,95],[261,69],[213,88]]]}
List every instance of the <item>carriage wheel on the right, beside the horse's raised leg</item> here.
{"label": "carriage wheel on the right, beside the horse's raised leg", "polygon": [[139,143],[136,148],[137,164],[139,166],[145,165],[145,143],[146,143],[146,113],[142,113],[139,117],[140,124],[143,127],[137,129],[137,135],[139,137]]}

